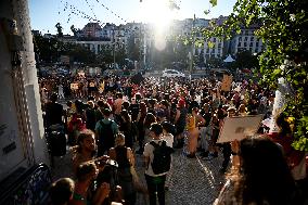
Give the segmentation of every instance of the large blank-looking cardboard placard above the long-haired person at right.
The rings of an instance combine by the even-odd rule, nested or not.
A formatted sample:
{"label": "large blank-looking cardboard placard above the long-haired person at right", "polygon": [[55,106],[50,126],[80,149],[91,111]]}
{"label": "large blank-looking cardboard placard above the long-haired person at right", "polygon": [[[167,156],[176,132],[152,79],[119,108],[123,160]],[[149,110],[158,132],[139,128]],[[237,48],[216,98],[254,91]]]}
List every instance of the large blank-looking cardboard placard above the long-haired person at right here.
{"label": "large blank-looking cardboard placard above the long-haired person at right", "polygon": [[240,141],[247,136],[254,136],[258,131],[262,118],[264,115],[226,117],[217,143]]}

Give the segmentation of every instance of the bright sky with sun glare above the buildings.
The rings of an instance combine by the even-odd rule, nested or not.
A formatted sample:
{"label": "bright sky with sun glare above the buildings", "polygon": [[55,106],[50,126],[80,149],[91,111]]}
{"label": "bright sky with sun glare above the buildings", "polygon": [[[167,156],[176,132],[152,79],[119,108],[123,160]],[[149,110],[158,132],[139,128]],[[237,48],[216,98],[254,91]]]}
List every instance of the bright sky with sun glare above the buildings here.
{"label": "bright sky with sun glare above the buildings", "polygon": [[[217,0],[211,8],[209,0],[175,0],[179,10],[170,11],[168,0],[28,0],[31,29],[42,34],[56,34],[60,23],[64,34],[72,34],[70,26],[82,28],[90,21],[116,25],[130,22],[165,24],[168,20],[213,18],[229,15],[235,0]],[[205,15],[204,11],[210,10]],[[82,16],[82,13],[88,17]],[[103,25],[103,24],[102,24]]]}

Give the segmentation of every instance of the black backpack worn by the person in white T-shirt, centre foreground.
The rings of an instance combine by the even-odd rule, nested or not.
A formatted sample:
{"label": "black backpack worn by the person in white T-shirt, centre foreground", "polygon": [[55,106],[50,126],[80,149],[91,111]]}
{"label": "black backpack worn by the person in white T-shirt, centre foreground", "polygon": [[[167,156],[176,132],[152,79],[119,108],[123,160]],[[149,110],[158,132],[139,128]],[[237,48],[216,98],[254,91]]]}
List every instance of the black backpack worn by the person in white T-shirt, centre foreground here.
{"label": "black backpack worn by the person in white T-shirt, centre foreground", "polygon": [[154,146],[154,158],[151,163],[153,172],[155,175],[159,175],[169,171],[174,149],[167,146],[167,142],[165,140],[162,141],[162,144],[156,144],[154,141],[150,142],[150,144]]}

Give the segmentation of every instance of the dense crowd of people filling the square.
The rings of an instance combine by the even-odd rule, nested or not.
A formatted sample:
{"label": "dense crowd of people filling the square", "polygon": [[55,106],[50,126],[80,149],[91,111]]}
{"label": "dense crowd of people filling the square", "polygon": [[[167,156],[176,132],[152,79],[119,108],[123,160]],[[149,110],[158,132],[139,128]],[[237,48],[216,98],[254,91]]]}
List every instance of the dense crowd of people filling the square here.
{"label": "dense crowd of people filling the square", "polygon": [[[47,133],[59,125],[56,129],[62,131],[57,133],[67,137],[74,153],[74,181],[63,178],[52,184],[54,205],[133,205],[137,191],[149,196],[150,205],[156,204],[156,196],[164,205],[171,155],[178,149],[188,158],[206,161],[222,153],[220,172],[228,180],[214,204],[303,203],[298,187],[306,179],[306,153],[291,146],[292,128],[285,116],[273,116],[280,128],[277,133],[269,133],[261,125],[254,137],[217,143],[226,117],[271,117],[272,90],[238,80],[230,85],[230,91],[222,91],[221,81],[215,78],[150,77],[140,84],[115,76],[72,80],[40,80]],[[78,89],[72,86],[76,81]],[[66,110],[57,97],[68,99]],[[147,189],[138,182],[137,154],[144,157]],[[156,163],[159,154],[162,161]],[[164,157],[169,159],[167,167]]]}

